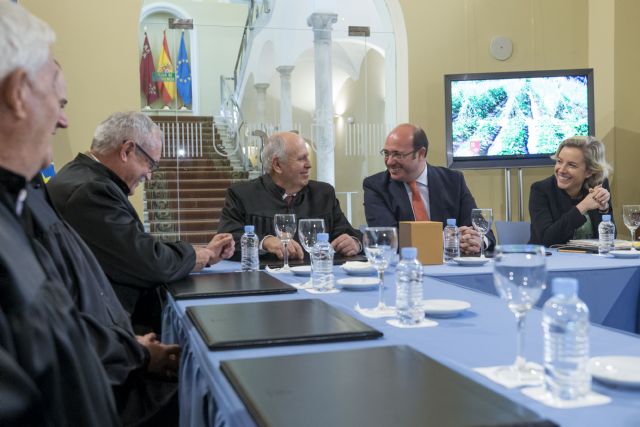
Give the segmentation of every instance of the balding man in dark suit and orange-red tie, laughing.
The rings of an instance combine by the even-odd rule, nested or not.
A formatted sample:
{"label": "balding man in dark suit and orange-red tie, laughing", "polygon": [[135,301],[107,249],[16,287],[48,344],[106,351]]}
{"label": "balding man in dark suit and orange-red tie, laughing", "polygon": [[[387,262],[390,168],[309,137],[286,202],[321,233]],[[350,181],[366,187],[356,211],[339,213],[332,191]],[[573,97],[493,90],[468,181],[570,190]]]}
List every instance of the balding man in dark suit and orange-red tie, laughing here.
{"label": "balding man in dark suit and orange-red tie, laughing", "polygon": [[461,172],[426,162],[429,141],[424,130],[409,123],[391,131],[380,154],[387,170],[365,178],[364,210],[367,224],[397,227],[399,221],[440,221],[455,218],[460,227],[463,254],[495,245],[492,232],[481,242],[471,227],[476,202]]}

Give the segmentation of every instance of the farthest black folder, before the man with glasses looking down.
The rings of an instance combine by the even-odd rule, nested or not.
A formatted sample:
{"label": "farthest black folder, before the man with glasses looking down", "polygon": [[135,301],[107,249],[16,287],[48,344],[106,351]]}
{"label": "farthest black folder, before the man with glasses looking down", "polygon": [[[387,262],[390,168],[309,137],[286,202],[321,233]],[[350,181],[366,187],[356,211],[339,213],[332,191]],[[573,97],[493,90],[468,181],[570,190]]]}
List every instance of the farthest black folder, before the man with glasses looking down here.
{"label": "farthest black folder, before the man with glasses looking down", "polygon": [[166,287],[176,299],[297,292],[295,287],[264,271],[192,274]]}

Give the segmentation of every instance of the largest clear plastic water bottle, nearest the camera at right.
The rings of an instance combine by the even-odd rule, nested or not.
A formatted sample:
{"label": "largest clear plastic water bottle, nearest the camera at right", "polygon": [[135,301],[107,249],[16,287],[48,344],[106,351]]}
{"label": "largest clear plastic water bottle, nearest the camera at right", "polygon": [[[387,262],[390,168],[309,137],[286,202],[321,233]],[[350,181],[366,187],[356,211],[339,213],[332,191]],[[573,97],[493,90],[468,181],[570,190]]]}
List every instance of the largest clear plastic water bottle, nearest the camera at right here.
{"label": "largest clear plastic water bottle, nearest the camera at right", "polygon": [[545,388],[554,399],[572,400],[591,390],[589,309],[578,298],[578,281],[557,278],[542,313]]}

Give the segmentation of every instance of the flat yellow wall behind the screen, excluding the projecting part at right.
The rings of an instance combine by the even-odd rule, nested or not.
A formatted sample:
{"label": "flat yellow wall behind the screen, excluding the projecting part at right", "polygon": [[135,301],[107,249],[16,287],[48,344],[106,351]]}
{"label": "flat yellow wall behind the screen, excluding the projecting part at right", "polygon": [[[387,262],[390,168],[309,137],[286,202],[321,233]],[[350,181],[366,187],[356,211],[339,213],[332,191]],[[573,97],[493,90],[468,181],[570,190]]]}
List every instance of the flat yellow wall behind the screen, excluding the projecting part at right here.
{"label": "flat yellow wall behind the screen, excluding the projecting part at right", "polygon": [[[430,163],[446,162],[444,74],[529,69],[584,68],[587,55],[587,0],[400,0],[409,44],[410,121],[424,127]],[[506,61],[491,57],[495,36],[513,42]],[[502,170],[464,172],[476,202],[504,219]],[[532,182],[551,168],[525,169],[525,212]],[[516,174],[512,208],[517,219]]]}

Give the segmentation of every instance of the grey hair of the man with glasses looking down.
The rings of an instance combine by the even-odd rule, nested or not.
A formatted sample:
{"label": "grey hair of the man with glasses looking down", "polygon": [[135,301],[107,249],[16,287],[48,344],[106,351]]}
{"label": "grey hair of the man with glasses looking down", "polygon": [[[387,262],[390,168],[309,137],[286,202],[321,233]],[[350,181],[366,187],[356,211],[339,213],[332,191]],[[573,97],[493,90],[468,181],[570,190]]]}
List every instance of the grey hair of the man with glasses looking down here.
{"label": "grey hair of the man with glasses looking down", "polygon": [[91,150],[108,154],[129,139],[143,148],[152,148],[154,136],[159,136],[162,141],[162,131],[145,114],[136,111],[113,113],[96,128]]}

